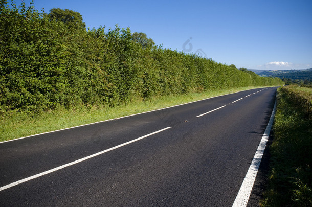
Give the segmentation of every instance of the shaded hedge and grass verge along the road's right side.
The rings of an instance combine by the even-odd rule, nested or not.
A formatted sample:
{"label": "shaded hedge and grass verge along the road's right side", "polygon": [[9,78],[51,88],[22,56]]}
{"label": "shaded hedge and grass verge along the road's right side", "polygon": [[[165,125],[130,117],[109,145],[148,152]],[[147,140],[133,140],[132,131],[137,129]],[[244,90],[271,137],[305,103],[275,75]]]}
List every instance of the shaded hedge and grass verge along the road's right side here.
{"label": "shaded hedge and grass verge along the road's right side", "polygon": [[312,88],[278,89],[268,188],[261,206],[312,206]]}

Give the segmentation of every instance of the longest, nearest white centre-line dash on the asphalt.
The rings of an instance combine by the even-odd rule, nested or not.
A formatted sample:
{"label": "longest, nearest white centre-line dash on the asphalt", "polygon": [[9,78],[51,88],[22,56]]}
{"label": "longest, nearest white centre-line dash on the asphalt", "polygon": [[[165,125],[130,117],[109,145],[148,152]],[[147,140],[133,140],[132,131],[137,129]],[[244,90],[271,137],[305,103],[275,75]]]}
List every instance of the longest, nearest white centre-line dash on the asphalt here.
{"label": "longest, nearest white centre-line dash on the asphalt", "polygon": [[120,144],[120,145],[117,145],[117,146],[115,146],[115,147],[106,149],[106,150],[104,150],[104,151],[101,151],[101,152],[98,152],[98,153],[95,153],[95,154],[92,154],[92,155],[83,157],[83,158],[78,159],[78,160],[76,160],[76,161],[74,161],[74,162],[71,162],[71,163],[68,163],[68,164],[65,164],[65,165],[62,165],[62,166],[53,168],[53,169],[51,169],[51,170],[48,170],[48,171],[45,171],[45,172],[42,172],[42,173],[33,175],[33,176],[31,176],[31,177],[27,177],[27,178],[25,178],[25,179],[18,180],[18,181],[13,182],[13,183],[11,183],[11,184],[9,184],[9,185],[6,185],[6,186],[1,187],[1,188],[0,188],[0,191],[3,191],[3,190],[5,190],[5,189],[11,188],[11,187],[13,187],[13,186],[19,185],[20,183],[27,182],[27,181],[29,181],[29,180],[32,180],[32,179],[41,177],[41,176],[43,176],[43,175],[47,175],[47,174],[49,174],[49,173],[55,172],[55,171],[57,171],[57,170],[60,170],[60,169],[62,169],[62,168],[66,168],[66,167],[75,165],[75,164],[77,164],[77,163],[83,162],[84,160],[87,160],[87,159],[93,158],[93,157],[95,157],[95,156],[104,154],[104,153],[106,153],[106,152],[112,151],[112,150],[114,150],[114,149],[117,149],[117,148],[119,148],[119,147],[128,145],[128,144],[130,144],[130,143],[133,143],[133,142],[142,140],[142,139],[144,139],[144,138],[146,138],[146,137],[148,137],[148,136],[150,136],[150,135],[159,133],[159,132],[161,132],[161,131],[164,131],[164,130],[167,130],[167,129],[170,129],[170,128],[171,128],[171,127],[166,127],[166,128],[164,128],[164,129],[161,129],[161,130],[152,132],[152,133],[150,133],[150,134],[141,136],[141,137],[139,137],[139,138],[137,138],[137,139],[135,139],[135,140],[131,140],[131,141],[129,141],[129,142],[125,142],[125,143],[123,143],[123,144]]}

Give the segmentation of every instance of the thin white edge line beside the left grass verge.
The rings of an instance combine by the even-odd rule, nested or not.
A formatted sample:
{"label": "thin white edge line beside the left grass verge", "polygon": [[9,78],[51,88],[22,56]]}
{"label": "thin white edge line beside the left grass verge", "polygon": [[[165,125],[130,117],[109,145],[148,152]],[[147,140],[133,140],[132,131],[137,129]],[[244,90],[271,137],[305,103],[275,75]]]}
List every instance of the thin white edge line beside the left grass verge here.
{"label": "thin white edge line beside the left grass verge", "polygon": [[[256,88],[253,88],[253,89],[256,89]],[[247,89],[247,90],[253,90],[253,89]],[[243,92],[243,91],[247,91],[247,90],[240,90],[240,91],[237,91],[235,93],[209,97],[209,98],[206,98],[206,99],[200,99],[200,100],[197,100],[197,101],[192,101],[192,102],[188,102],[188,103],[184,103],[184,104],[178,104],[178,105],[168,106],[168,107],[165,107],[165,108],[155,109],[155,110],[151,110],[151,111],[145,111],[145,112],[142,112],[142,113],[135,113],[135,114],[131,114],[131,115],[124,116],[124,117],[113,118],[113,119],[103,120],[103,121],[99,121],[99,122],[93,122],[93,123],[89,123],[89,124],[83,124],[83,125],[69,127],[69,128],[64,128],[64,129],[58,129],[58,130],[54,130],[54,131],[47,131],[47,132],[43,132],[43,133],[39,133],[39,134],[33,134],[33,135],[29,135],[29,136],[16,138],[16,139],[13,139],[13,140],[2,141],[2,142],[0,142],[0,144],[5,143],[5,142],[12,142],[12,141],[15,141],[15,140],[20,140],[20,139],[25,139],[25,138],[28,138],[28,137],[38,136],[38,135],[42,135],[42,134],[47,134],[47,133],[52,133],[52,132],[57,132],[57,131],[63,131],[63,130],[67,130],[67,129],[73,129],[73,128],[77,128],[77,127],[82,127],[82,126],[87,126],[87,125],[92,125],[92,124],[97,124],[97,123],[102,123],[102,122],[108,122],[108,121],[122,119],[122,118],[126,118],[126,117],[132,117],[132,116],[136,116],[136,115],[139,115],[139,114],[150,113],[150,112],[153,112],[153,111],[159,111],[159,110],[163,110],[163,109],[167,109],[167,108],[173,108],[173,107],[176,107],[176,106],[182,106],[182,105],[195,103],[195,102],[198,102],[198,101],[204,101],[204,100],[207,100],[207,99],[212,99],[212,98],[216,98],[216,97],[220,97],[220,96],[227,96],[227,95],[231,95],[231,94],[237,94],[237,93],[240,93],[240,92]]]}

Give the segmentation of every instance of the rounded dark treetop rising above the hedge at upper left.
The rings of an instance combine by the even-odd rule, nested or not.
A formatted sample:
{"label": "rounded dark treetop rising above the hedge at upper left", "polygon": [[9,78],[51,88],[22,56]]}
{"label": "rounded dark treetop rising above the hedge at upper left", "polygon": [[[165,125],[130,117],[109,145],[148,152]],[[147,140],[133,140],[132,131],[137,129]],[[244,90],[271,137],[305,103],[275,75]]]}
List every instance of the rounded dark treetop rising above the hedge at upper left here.
{"label": "rounded dark treetop rising above the hedge at upper left", "polygon": [[85,29],[85,23],[82,22],[82,16],[79,12],[69,9],[53,8],[49,13],[50,20],[57,20],[64,22],[69,28]]}

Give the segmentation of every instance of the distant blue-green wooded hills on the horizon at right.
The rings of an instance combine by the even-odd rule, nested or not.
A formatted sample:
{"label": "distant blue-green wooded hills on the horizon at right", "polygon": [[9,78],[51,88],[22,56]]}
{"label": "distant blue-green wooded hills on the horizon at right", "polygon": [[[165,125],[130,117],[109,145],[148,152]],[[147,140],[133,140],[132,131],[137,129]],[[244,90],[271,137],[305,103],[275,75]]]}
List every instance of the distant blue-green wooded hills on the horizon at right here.
{"label": "distant blue-green wooded hills on the horizon at right", "polygon": [[[253,70],[254,73],[262,77],[278,77],[283,79],[285,82],[293,82],[299,84],[310,84],[312,82],[312,68],[302,70]],[[288,80],[290,79],[290,80]]]}

